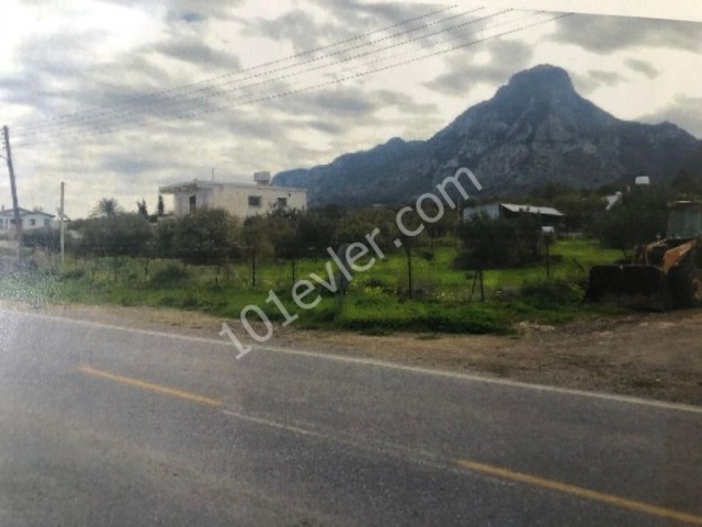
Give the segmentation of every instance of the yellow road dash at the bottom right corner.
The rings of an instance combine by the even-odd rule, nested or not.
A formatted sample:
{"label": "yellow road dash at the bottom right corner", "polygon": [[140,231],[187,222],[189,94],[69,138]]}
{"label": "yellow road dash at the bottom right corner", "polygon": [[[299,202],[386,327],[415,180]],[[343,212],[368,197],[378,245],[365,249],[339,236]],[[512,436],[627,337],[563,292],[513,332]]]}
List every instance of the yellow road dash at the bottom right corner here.
{"label": "yellow road dash at the bottom right corner", "polygon": [[645,513],[652,516],[658,516],[660,518],[673,519],[691,525],[702,525],[702,516],[695,516],[694,514],[681,513],[679,511],[672,511],[669,508],[658,507],[649,505],[643,502],[636,502],[633,500],[626,500],[625,497],[615,496],[612,494],[604,494],[602,492],[591,491],[581,486],[569,485],[567,483],[561,483],[558,481],[547,480],[545,478],[539,478],[537,475],[524,474],[521,472],[513,472],[508,469],[494,467],[491,464],[477,463],[475,461],[468,461],[466,459],[460,459],[456,463],[467,470],[480,472],[484,474],[495,475],[505,480],[517,481],[519,483],[526,483],[533,486],[541,486],[551,491],[562,492],[564,494],[570,494],[585,500],[593,502],[605,503],[615,507],[626,508],[638,513]]}

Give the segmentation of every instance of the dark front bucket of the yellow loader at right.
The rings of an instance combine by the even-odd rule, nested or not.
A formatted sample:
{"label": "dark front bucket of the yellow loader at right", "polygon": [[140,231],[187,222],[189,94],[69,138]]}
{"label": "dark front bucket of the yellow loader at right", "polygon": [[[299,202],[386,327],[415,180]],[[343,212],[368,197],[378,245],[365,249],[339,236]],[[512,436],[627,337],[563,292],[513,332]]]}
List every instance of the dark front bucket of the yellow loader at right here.
{"label": "dark front bucket of the yellow loader at right", "polygon": [[585,301],[649,311],[671,307],[668,278],[655,266],[595,266],[590,269]]}

